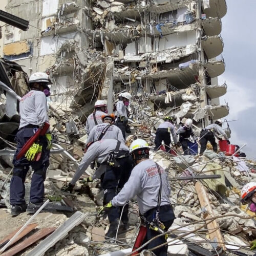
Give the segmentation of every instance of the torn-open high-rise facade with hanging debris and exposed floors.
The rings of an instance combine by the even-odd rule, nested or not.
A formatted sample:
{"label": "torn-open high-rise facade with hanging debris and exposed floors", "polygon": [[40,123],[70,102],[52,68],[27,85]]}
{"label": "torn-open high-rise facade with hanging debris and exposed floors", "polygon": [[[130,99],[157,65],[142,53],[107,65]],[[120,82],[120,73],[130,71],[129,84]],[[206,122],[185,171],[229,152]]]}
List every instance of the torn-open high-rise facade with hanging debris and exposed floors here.
{"label": "torn-open high-rise facade with hanging debris and exposed floors", "polygon": [[[30,75],[49,72],[51,101],[90,113],[113,92],[151,95],[155,107],[205,126],[228,114],[221,18],[225,0],[25,0],[6,11],[30,20],[6,26],[4,57]],[[11,46],[11,47],[10,47]],[[15,49],[15,50],[14,50]]]}

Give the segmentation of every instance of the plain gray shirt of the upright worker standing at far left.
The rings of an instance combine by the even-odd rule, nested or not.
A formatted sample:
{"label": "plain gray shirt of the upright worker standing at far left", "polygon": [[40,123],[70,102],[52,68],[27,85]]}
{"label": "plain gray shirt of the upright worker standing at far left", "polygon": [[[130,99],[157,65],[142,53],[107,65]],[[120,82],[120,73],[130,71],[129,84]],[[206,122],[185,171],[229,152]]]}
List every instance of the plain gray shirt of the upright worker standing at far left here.
{"label": "plain gray shirt of the upright worker standing at far left", "polygon": [[45,93],[31,90],[19,102],[19,129],[28,124],[41,126],[44,122],[48,122],[47,110]]}

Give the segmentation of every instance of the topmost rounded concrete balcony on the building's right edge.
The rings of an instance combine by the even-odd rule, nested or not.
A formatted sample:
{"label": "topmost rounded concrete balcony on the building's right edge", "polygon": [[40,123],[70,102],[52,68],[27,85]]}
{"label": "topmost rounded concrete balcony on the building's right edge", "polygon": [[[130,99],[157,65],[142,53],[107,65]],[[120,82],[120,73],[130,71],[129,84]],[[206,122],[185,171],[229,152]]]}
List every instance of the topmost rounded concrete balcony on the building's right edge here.
{"label": "topmost rounded concrete balcony on the building's right edge", "polygon": [[[205,9],[204,9],[205,8]],[[203,5],[203,11],[206,17],[224,17],[227,13],[227,5],[225,0],[209,0],[209,6],[207,4]]]}

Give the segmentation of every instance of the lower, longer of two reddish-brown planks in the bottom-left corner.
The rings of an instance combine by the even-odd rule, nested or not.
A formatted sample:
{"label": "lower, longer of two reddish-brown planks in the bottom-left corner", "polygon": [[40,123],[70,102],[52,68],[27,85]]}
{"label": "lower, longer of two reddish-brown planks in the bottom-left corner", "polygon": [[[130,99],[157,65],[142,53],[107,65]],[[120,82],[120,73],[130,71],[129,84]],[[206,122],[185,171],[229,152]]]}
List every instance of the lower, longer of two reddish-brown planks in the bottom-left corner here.
{"label": "lower, longer of two reddish-brown planks in the bottom-left corner", "polygon": [[38,230],[37,232],[32,234],[32,236],[30,236],[27,239],[25,239],[23,242],[15,245],[11,249],[9,249],[5,253],[3,253],[2,256],[12,256],[12,255],[15,255],[16,253],[24,250],[25,248],[29,247],[33,243],[37,242],[41,238],[46,237],[48,234],[52,233],[55,229],[56,229],[56,227],[46,227],[46,228]]}

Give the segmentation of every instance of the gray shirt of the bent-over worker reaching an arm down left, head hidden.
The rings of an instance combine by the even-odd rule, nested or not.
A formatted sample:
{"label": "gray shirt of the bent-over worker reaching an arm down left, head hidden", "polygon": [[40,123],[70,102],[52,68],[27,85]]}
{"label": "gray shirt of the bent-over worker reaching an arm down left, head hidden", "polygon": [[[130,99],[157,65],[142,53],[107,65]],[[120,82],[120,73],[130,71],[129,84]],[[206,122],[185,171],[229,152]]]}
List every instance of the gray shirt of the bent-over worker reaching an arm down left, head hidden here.
{"label": "gray shirt of the bent-over worker reaching an arm down left, head hidden", "polygon": [[[100,164],[104,163],[109,154],[115,151],[116,144],[117,140],[114,139],[105,139],[94,142],[88,148],[87,153],[84,154],[82,161],[77,167],[76,173],[70,183],[74,185],[83,175],[84,171],[88,168],[92,161],[96,160]],[[129,151],[129,148],[121,143],[119,150]]]}

